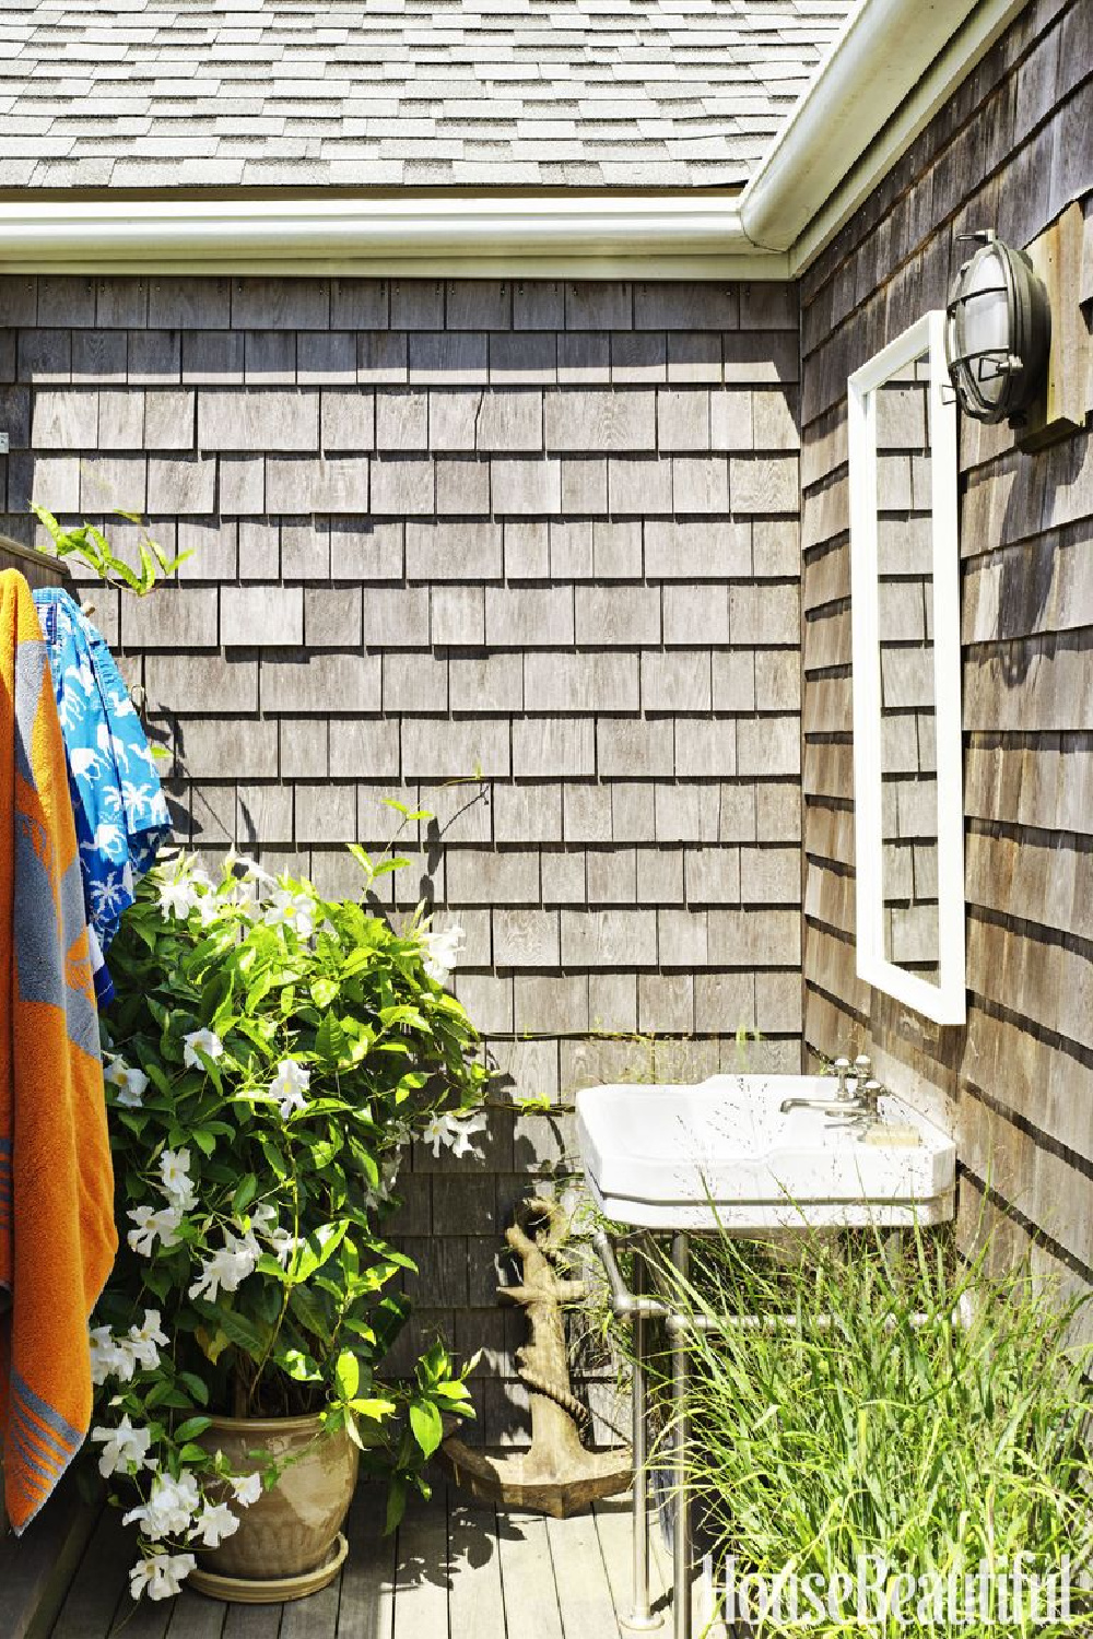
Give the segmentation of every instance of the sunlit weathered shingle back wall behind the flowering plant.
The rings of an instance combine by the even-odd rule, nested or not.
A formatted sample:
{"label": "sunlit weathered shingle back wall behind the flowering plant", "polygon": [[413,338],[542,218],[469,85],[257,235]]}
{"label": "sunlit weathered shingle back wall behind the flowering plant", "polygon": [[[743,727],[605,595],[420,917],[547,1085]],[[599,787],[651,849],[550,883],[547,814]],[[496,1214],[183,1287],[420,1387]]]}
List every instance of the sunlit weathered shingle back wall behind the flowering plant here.
{"label": "sunlit weathered shingle back wall behind the flowering plant", "polygon": [[[7,528],[33,493],[195,549],[120,629],[95,593],[184,839],[356,893],[382,798],[433,810],[400,895],[465,928],[519,1096],[649,1074],[596,1031],[798,1067],[791,287],[8,279],[0,325]],[[498,1372],[500,1229],[567,1133],[408,1180],[424,1318]]]}

